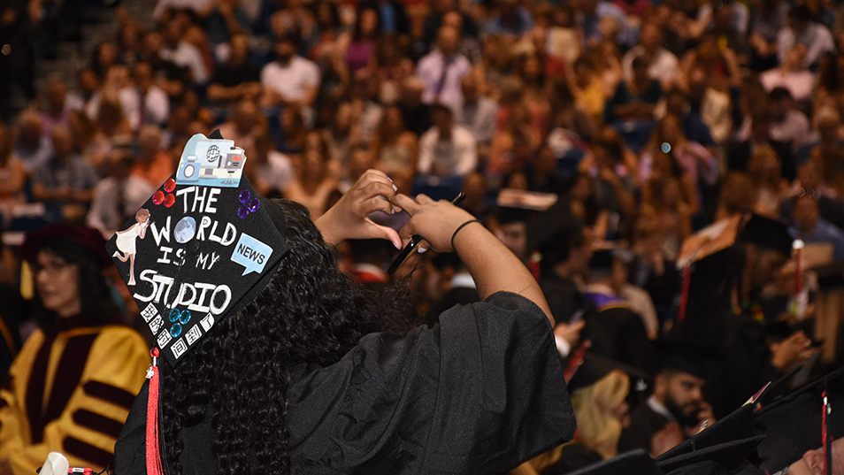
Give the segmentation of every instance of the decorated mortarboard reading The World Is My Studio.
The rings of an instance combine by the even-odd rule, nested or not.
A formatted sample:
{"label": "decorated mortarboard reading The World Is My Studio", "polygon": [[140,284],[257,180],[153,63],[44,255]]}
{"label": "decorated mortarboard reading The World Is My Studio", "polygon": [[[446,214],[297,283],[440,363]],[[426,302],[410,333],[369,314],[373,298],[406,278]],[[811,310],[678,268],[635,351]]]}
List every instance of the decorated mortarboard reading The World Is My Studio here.
{"label": "decorated mortarboard reading The World Is My Studio", "polygon": [[108,242],[170,364],[251,302],[289,249],[279,206],[257,195],[245,163],[219,132],[194,135],[173,176]]}

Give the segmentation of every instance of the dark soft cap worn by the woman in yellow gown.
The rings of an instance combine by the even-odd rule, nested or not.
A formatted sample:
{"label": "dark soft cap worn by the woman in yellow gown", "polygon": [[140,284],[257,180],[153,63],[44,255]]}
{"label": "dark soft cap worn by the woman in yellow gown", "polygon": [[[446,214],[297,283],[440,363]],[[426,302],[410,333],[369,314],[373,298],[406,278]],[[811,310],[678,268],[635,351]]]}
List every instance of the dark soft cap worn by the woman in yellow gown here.
{"label": "dark soft cap worn by the woman in yellow gown", "polygon": [[27,233],[23,245],[20,246],[20,257],[29,263],[35,263],[38,251],[49,245],[72,246],[87,253],[88,257],[103,268],[111,263],[111,259],[105,253],[103,234],[87,226],[68,223],[49,225]]}

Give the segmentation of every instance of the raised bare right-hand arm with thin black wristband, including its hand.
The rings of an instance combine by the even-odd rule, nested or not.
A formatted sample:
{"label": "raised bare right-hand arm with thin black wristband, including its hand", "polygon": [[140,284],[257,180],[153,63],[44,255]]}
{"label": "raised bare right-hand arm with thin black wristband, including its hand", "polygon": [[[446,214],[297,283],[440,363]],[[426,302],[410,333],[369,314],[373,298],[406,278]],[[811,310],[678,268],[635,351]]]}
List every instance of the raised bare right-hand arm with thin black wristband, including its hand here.
{"label": "raised bare right-hand arm with thin black wristband, including its hand", "polygon": [[545,296],[525,264],[480,223],[470,222],[461,227],[474,219],[469,212],[444,200],[434,202],[426,195],[413,200],[398,194],[393,204],[410,213],[410,222],[399,232],[404,241],[412,234],[419,234],[427,241],[427,247],[436,252],[457,251],[472,274],[481,299],[502,291],[522,295],[536,303],[554,326]]}

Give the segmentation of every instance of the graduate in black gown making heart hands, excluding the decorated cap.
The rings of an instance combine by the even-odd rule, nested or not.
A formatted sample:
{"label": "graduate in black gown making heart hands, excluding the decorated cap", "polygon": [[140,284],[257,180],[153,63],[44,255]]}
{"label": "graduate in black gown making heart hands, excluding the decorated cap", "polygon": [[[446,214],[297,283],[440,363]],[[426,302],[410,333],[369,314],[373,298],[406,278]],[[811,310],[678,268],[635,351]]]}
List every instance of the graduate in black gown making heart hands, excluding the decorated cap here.
{"label": "graduate in black gown making heart hands, excluding the decorated cap", "polygon": [[[571,439],[547,303],[471,214],[396,195],[375,171],[316,224],[299,204],[262,203],[289,251],[266,267],[257,297],[161,365],[163,472],[497,473]],[[483,302],[445,311],[434,328],[377,333],[406,315],[373,303],[333,246],[398,241],[364,219],[394,205],[412,217],[403,241],[420,234],[427,249],[456,250]],[[121,475],[147,472],[147,403],[144,386],[116,446]]]}

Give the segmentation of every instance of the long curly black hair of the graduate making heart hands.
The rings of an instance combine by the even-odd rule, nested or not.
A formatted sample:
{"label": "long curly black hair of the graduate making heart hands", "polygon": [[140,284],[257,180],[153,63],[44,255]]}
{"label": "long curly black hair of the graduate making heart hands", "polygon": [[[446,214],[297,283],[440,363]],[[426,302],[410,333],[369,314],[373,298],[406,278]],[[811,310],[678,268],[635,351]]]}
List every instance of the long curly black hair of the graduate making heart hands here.
{"label": "long curly black hair of the graduate making heart hands", "polygon": [[334,249],[308,211],[290,201],[276,203],[291,249],[267,287],[219,321],[187,361],[162,365],[163,456],[174,475],[182,473],[180,430],[203,418],[211,418],[216,434],[219,474],[288,473],[285,395],[291,368],[333,364],[364,334],[387,327],[387,320],[393,328],[410,322],[403,313],[410,299],[399,295],[389,303],[393,310],[376,308],[368,290],[337,267]]}

